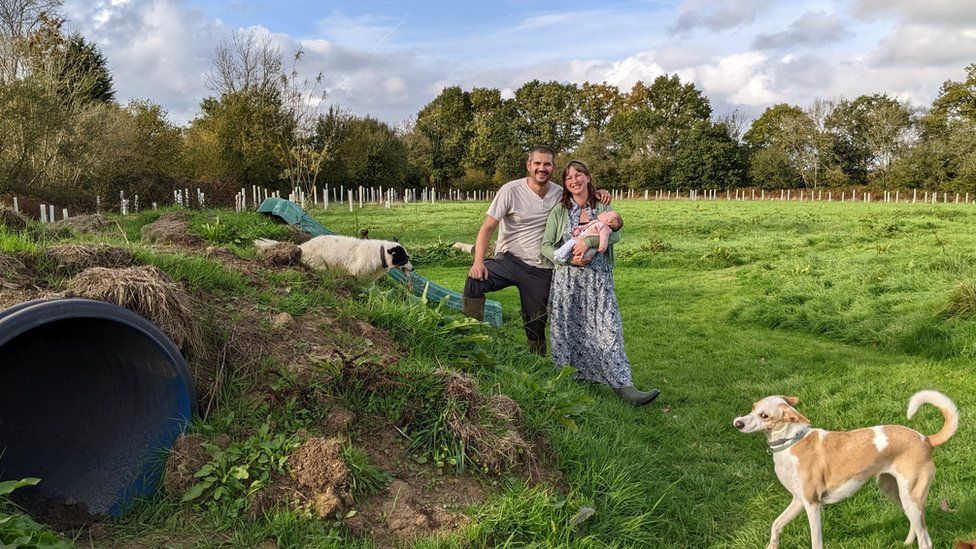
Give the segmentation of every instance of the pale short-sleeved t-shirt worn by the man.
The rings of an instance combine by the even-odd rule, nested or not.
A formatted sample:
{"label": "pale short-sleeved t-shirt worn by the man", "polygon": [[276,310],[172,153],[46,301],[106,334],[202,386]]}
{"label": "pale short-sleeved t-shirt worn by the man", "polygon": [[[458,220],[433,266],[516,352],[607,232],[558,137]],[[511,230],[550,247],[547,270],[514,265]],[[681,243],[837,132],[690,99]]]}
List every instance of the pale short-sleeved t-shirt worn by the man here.
{"label": "pale short-sleeved t-shirt worn by the man", "polygon": [[540,248],[549,210],[562,193],[563,188],[550,181],[542,198],[529,188],[524,177],[502,185],[488,207],[488,215],[499,221],[495,252],[510,253],[533,267],[552,269],[552,262],[542,257]]}

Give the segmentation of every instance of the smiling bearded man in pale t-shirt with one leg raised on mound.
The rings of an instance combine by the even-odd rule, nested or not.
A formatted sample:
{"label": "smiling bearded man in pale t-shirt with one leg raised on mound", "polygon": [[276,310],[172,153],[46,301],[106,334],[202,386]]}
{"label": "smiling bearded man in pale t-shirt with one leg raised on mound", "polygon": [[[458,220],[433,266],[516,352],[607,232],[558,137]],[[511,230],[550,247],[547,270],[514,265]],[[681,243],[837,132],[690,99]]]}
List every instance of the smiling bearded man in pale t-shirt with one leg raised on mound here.
{"label": "smiling bearded man in pale t-shirt with one leg raised on mound", "polygon": [[[562,196],[563,188],[550,181],[556,169],[555,152],[549,147],[529,151],[528,175],[509,181],[498,189],[474,245],[474,264],[468,271],[461,299],[464,314],[482,320],[485,293],[509,286],[519,291],[525,336],[532,352],[546,353],[546,320],[553,265],[539,248],[549,210]],[[610,193],[597,191],[597,198],[610,202]],[[485,252],[495,230],[495,257],[485,261]],[[590,260],[576,260],[585,265]]]}

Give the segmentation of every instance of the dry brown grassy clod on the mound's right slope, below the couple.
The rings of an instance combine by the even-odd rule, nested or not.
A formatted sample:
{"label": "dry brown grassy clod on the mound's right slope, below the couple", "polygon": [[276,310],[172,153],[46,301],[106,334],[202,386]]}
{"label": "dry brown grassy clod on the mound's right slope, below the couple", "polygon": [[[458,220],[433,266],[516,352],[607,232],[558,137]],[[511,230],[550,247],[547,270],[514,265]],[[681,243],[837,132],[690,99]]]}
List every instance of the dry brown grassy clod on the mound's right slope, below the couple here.
{"label": "dry brown grassy clod on the mound's right slope, below the couple", "polygon": [[521,410],[505,395],[483,397],[474,379],[443,372],[444,396],[461,404],[447,409],[445,421],[454,437],[471,448],[472,458],[493,473],[535,461],[532,446],[522,438]]}

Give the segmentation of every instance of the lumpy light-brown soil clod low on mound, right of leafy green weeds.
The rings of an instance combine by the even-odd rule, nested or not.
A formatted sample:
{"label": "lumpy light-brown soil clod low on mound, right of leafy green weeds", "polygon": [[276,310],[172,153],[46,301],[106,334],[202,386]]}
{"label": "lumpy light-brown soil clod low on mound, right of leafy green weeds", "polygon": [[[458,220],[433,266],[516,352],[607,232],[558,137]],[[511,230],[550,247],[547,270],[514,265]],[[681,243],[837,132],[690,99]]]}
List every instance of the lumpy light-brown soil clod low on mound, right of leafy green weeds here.
{"label": "lumpy light-brown soil clod low on mound, right of leafy green weeds", "polygon": [[292,478],[311,491],[311,508],[320,518],[336,516],[349,501],[349,468],[338,440],[310,438],[288,456]]}

